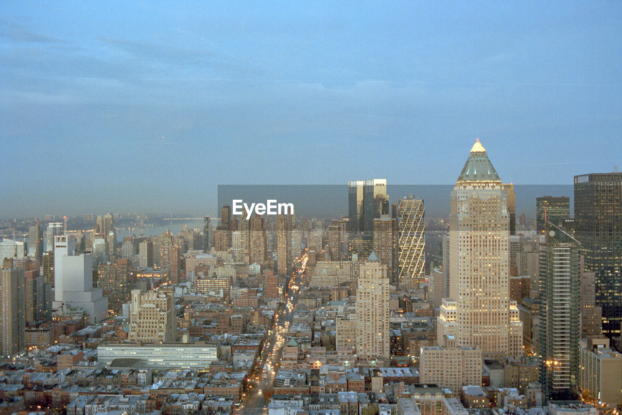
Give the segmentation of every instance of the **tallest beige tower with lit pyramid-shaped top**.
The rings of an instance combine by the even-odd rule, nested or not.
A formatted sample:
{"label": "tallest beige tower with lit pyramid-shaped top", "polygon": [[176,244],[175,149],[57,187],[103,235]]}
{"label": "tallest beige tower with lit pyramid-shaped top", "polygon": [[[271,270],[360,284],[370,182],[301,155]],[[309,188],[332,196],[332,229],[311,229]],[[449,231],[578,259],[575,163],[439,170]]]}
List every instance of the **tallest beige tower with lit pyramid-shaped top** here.
{"label": "tallest beige tower with lit pyramid-shaped top", "polygon": [[477,140],[451,194],[450,301],[443,300],[437,338],[485,357],[522,353],[522,324],[509,299],[508,191]]}

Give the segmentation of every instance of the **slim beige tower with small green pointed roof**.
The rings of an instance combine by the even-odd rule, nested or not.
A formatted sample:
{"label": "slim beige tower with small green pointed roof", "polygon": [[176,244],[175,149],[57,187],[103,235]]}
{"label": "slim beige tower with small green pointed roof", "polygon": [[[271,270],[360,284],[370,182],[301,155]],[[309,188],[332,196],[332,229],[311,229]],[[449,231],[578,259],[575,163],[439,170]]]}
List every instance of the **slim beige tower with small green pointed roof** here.
{"label": "slim beige tower with small green pointed roof", "polygon": [[356,289],[356,354],[359,359],[390,358],[389,277],[373,252],[361,264]]}

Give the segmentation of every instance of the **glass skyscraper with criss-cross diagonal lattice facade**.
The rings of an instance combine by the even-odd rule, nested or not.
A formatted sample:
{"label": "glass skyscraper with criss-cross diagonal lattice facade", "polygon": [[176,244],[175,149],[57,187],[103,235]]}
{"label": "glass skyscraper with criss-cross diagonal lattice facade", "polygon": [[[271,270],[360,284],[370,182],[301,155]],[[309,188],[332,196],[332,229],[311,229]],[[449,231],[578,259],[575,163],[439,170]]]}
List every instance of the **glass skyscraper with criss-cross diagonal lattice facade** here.
{"label": "glass skyscraper with criss-cross diagonal lattice facade", "polygon": [[399,228],[399,285],[425,282],[425,207],[422,199],[408,195],[397,200],[393,215]]}

